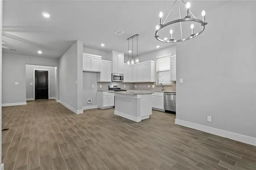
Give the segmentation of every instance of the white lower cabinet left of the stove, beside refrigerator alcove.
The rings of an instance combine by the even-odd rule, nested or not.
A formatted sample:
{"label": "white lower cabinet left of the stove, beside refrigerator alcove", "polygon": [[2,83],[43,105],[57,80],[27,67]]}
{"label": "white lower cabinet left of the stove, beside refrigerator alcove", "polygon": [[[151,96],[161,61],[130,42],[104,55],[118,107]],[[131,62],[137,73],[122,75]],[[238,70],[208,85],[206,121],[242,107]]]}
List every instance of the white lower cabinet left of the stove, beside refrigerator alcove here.
{"label": "white lower cabinet left of the stove, beside refrigerator alcove", "polygon": [[98,91],[97,94],[98,94],[98,107],[100,109],[113,108],[113,106],[115,105],[114,93]]}

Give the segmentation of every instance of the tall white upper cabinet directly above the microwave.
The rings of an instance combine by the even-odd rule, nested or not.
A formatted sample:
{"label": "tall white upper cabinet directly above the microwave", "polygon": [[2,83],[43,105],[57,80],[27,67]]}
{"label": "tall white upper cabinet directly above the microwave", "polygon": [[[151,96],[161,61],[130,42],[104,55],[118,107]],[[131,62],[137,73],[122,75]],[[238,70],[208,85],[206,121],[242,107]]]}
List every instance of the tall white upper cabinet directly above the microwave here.
{"label": "tall white upper cabinet directly above the microwave", "polygon": [[110,60],[112,60],[112,73],[124,74],[124,53],[112,51]]}

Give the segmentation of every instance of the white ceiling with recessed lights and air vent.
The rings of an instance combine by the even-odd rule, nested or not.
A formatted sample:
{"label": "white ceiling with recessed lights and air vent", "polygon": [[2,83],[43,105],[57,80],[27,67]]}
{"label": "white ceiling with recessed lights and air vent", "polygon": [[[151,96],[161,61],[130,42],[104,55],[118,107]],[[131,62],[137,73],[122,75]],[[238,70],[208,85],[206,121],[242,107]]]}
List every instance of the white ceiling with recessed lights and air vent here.
{"label": "white ceiling with recessed lights and air vent", "polygon": [[[207,18],[207,10],[224,2],[190,1],[190,9],[197,18],[201,18],[201,11],[204,9]],[[3,1],[3,41],[6,46],[17,49],[16,52],[3,49],[3,52],[60,58],[75,40],[80,40],[88,48],[127,53],[126,39],[135,34],[140,35],[138,55],[156,50],[157,45],[160,48],[171,46],[172,43],[157,41],[154,33],[159,24],[159,12],[162,11],[165,18],[173,3],[174,1]],[[183,4],[181,9],[184,17],[186,8]],[[41,12],[48,12],[51,17],[43,18]],[[178,17],[176,4],[166,21]],[[182,28],[190,34],[190,23],[182,25]],[[124,33],[114,34],[118,29]],[[169,29],[170,27],[163,30],[160,36],[168,36]],[[174,38],[179,38],[179,25],[174,25],[172,29]],[[199,26],[195,26],[195,29],[199,29]],[[101,47],[101,43],[105,46]],[[43,54],[39,55],[38,50]]]}

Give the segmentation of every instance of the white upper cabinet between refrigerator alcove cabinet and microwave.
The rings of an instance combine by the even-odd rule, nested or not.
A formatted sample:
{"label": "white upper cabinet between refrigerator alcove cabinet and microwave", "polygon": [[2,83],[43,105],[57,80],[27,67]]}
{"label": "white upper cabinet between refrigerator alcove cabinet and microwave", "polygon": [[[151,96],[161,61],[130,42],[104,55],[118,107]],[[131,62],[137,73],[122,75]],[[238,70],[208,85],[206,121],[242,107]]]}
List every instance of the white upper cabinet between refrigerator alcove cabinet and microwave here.
{"label": "white upper cabinet between refrigerator alcove cabinet and microwave", "polygon": [[100,73],[98,73],[98,82],[111,82],[112,62],[108,60],[101,60]]}

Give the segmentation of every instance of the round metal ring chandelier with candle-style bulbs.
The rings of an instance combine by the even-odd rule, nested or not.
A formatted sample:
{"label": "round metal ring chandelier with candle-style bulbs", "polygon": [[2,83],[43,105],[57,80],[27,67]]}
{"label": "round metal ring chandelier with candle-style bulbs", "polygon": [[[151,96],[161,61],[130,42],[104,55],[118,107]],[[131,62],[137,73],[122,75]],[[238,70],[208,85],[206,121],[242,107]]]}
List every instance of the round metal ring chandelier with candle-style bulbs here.
{"label": "round metal ring chandelier with candle-style bulbs", "polygon": [[[174,4],[172,5],[172,8],[174,7],[176,1],[177,1],[177,0],[175,0]],[[165,23],[167,17],[169,16],[170,12],[172,11],[172,8],[171,8],[170,11],[169,11],[169,13],[168,13],[168,15],[166,16],[164,22],[162,23],[163,13],[160,12],[160,14],[159,14],[159,17],[160,17],[160,24],[157,25],[157,27],[156,27],[157,30],[155,31],[155,38],[156,38],[157,40],[162,41],[162,42],[180,42],[180,41],[185,41],[185,40],[188,40],[188,39],[192,39],[192,38],[196,37],[197,35],[201,34],[201,33],[204,31],[205,25],[208,24],[207,22],[205,22],[205,10],[202,11],[203,20],[197,19],[197,18],[194,16],[194,14],[191,12],[191,10],[190,10],[190,3],[189,3],[189,2],[188,2],[187,4],[185,4],[183,0],[178,0],[178,3],[179,3],[179,12],[180,12],[180,1],[182,1],[182,3],[183,3],[183,4],[186,6],[186,8],[187,8],[186,16],[185,16],[184,18],[181,18],[181,14],[180,14],[180,19],[173,20],[173,21],[170,21],[170,22]],[[190,13],[191,13],[191,15],[193,16],[193,18],[191,18]],[[191,25],[190,25],[190,27],[191,27],[191,35],[190,35],[190,37],[183,38],[183,37],[182,37],[182,24],[181,24],[181,23],[182,23],[182,22],[186,22],[186,21],[200,23],[201,26],[202,26],[202,29],[201,29],[199,32],[194,33],[194,24],[191,24]],[[181,37],[180,39],[174,40],[174,39],[172,38],[172,34],[173,34],[172,29],[170,29],[170,39],[169,39],[169,40],[166,39],[166,38],[165,38],[165,39],[161,39],[161,38],[159,37],[158,34],[159,34],[159,31],[160,31],[162,28],[164,28],[164,27],[166,27],[166,26],[168,26],[168,25],[171,25],[171,24],[178,23],[178,22],[180,23],[180,37]]]}

